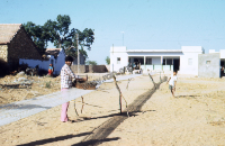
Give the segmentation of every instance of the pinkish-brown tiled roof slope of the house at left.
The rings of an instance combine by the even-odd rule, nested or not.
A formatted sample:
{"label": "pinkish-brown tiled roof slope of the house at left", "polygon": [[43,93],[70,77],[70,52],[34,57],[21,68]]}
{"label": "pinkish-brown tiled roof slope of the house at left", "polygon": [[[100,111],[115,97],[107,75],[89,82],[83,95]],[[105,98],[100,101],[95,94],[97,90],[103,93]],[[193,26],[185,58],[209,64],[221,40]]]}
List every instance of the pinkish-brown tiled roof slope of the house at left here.
{"label": "pinkish-brown tiled roof slope of the house at left", "polygon": [[22,24],[0,24],[0,45],[10,43],[21,26]]}

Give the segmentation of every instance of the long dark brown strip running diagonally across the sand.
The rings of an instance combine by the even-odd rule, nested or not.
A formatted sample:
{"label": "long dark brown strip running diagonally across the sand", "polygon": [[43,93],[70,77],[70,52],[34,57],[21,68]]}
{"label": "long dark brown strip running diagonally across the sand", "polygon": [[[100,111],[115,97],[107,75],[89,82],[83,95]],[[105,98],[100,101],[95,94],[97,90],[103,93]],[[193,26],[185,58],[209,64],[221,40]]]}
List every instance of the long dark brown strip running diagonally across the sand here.
{"label": "long dark brown strip running diagonally across the sand", "polygon": [[[130,105],[128,105],[128,111],[130,116],[135,116],[135,113],[138,111],[141,111],[142,106],[148,101],[151,96],[155,93],[157,89],[159,89],[160,85],[162,82],[166,81],[167,77],[163,77],[161,79],[160,77],[160,83],[154,83],[154,89],[149,89],[147,92],[139,95]],[[155,110],[150,110],[150,111],[155,111]],[[107,139],[107,137],[121,124],[123,123],[124,120],[129,118],[127,116],[127,113],[122,113],[122,114],[112,114],[108,116],[103,116],[103,117],[110,117],[109,120],[106,122],[102,123],[100,127],[96,128],[93,130],[93,134],[88,135],[83,139],[83,141],[80,143],[80,145],[88,145],[87,143],[89,142],[94,142],[91,145],[96,146],[104,142],[104,140]],[[103,118],[103,117],[97,117],[97,118]],[[93,118],[92,118],[93,119]]]}

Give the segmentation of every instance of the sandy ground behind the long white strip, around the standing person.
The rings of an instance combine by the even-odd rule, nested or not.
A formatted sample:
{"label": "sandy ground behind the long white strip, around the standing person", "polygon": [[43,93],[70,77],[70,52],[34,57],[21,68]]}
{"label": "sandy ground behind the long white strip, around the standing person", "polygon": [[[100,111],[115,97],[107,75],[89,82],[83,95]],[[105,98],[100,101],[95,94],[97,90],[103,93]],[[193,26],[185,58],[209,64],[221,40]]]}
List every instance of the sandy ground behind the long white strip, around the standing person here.
{"label": "sandy ground behind the long white strip, around the standing person", "polygon": [[[89,81],[101,79],[103,75],[107,73],[85,73],[85,74],[76,74],[81,77],[84,75],[89,76]],[[16,79],[18,80],[21,76],[6,76],[0,78],[0,84],[13,83]],[[52,92],[60,91],[60,76],[53,77],[36,77],[36,76],[22,76],[27,78],[30,81],[34,81],[30,88],[21,88],[21,89],[2,89],[0,86],[0,105],[30,99],[38,97],[41,95],[50,94]],[[47,84],[47,86],[46,86]]]}

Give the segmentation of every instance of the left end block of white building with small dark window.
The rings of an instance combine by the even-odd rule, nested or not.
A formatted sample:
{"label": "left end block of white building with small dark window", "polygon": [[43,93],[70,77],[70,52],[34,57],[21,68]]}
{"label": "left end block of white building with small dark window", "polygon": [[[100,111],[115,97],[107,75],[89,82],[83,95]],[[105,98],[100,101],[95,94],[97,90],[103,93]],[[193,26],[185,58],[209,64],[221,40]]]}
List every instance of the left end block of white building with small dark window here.
{"label": "left end block of white building with small dark window", "polygon": [[[120,57],[120,64],[117,64],[117,58]],[[110,71],[118,72],[120,68],[128,65],[128,55],[126,47],[111,47],[110,48]]]}

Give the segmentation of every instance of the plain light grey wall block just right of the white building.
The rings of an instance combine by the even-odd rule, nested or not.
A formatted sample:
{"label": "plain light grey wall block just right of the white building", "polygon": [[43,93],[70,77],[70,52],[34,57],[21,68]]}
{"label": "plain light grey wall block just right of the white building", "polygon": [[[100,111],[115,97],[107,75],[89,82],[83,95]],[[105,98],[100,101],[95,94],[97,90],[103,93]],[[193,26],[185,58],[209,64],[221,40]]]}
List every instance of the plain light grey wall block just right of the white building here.
{"label": "plain light grey wall block just right of the white building", "polygon": [[[210,62],[210,63],[207,63]],[[199,54],[198,55],[198,76],[204,78],[220,77],[220,54]]]}

